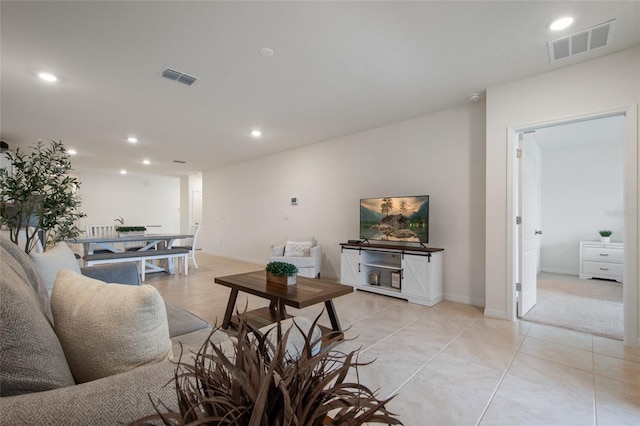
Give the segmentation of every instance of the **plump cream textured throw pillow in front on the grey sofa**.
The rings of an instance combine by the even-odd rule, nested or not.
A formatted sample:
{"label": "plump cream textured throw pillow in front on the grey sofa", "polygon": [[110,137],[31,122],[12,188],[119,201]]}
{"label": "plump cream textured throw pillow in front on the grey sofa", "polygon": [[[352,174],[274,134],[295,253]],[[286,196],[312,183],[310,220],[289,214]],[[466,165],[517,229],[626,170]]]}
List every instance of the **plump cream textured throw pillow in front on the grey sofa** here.
{"label": "plump cream textured throw pillow in front on the grey sofa", "polygon": [[79,383],[172,356],[167,311],[152,286],[106,284],[62,270],[53,286],[51,309]]}

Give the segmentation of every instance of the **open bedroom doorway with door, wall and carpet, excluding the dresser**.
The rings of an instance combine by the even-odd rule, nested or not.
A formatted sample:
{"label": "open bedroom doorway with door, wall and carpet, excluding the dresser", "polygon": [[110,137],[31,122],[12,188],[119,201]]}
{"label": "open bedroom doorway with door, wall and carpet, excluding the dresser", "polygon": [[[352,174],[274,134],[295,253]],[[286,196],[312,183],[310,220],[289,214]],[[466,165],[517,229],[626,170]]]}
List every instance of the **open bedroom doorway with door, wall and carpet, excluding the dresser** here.
{"label": "open bedroom doorway with door, wall and carpet, excluding the dresser", "polygon": [[518,317],[622,340],[622,284],[578,275],[581,241],[609,229],[622,244],[623,115],[539,127],[521,145]]}

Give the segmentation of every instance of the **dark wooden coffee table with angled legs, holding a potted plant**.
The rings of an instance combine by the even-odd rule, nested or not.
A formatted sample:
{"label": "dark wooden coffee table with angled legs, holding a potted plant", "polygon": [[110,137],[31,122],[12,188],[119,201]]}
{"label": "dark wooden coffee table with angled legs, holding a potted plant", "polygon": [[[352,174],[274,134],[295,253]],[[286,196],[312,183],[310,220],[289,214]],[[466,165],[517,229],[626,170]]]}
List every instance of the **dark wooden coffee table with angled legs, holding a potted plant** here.
{"label": "dark wooden coffee table with angled legs, holding a potted plant", "polygon": [[336,314],[333,299],[353,292],[353,287],[337,284],[328,280],[312,279],[298,276],[297,284],[291,286],[267,284],[265,271],[249,272],[246,274],[229,275],[215,279],[216,284],[231,288],[227,310],[222,321],[222,328],[229,328],[233,321],[233,311],[236,306],[238,292],[253,294],[271,301],[269,307],[246,312],[249,323],[256,327],[273,324],[276,321],[291,317],[287,315],[285,306],[306,308],[324,302],[331,321],[331,329],[318,325],[324,336],[343,337],[340,321]]}

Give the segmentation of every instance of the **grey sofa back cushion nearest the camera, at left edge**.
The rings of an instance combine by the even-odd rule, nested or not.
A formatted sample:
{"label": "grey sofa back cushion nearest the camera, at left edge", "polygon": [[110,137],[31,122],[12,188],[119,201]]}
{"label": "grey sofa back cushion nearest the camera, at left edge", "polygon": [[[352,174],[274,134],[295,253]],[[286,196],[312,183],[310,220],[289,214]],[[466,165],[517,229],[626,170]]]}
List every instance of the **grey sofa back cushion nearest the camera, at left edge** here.
{"label": "grey sofa back cushion nearest the camera, at left edge", "polygon": [[[5,241],[0,252],[0,395],[75,385],[40,298],[33,284],[25,281],[18,260],[5,250]],[[22,254],[30,262],[29,256]],[[24,260],[23,257],[21,261]]]}

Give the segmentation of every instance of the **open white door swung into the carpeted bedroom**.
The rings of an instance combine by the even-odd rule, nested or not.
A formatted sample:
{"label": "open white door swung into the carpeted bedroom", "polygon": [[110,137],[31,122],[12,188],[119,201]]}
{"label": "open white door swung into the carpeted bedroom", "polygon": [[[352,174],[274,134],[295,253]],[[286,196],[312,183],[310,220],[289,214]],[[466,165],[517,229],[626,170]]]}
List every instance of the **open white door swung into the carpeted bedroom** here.
{"label": "open white door swung into the carpeted bedroom", "polygon": [[539,149],[535,142],[523,143],[518,134],[518,316],[523,317],[537,302],[538,275],[538,163]]}

